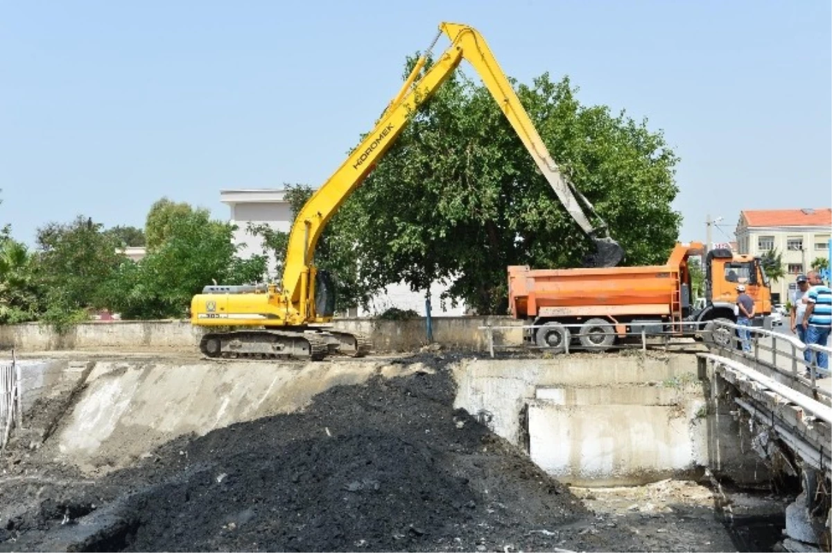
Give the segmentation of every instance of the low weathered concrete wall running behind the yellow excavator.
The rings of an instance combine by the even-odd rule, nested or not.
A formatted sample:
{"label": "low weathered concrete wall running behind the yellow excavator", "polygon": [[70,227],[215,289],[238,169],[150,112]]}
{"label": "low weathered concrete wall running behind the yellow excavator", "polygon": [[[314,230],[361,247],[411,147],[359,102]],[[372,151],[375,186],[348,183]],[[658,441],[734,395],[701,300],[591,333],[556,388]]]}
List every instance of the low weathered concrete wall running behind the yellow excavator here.
{"label": "low weathered concrete wall running behind the yellow excavator", "polygon": [[[433,319],[433,340],[457,350],[487,351],[488,338],[478,326],[518,326],[494,331],[497,345],[522,343],[522,321],[510,317],[460,316]],[[427,343],[422,318],[410,321],[341,319],[334,328],[369,335],[375,351],[414,351]],[[189,321],[96,321],[74,326],[64,334],[30,323],[0,326],[0,349],[21,351],[118,350],[196,351],[204,331]]]}

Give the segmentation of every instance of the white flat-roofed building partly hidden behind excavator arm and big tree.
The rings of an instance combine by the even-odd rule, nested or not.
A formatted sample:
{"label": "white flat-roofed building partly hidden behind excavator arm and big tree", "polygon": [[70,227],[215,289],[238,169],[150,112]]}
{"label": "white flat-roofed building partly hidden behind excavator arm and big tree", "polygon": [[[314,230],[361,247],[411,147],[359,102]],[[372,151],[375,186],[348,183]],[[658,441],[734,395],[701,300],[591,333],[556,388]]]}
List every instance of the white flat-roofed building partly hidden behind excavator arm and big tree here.
{"label": "white flat-roofed building partly hidden behind excavator arm and big tree", "polygon": [[[276,231],[290,232],[292,226],[292,210],[285,198],[285,190],[281,189],[250,189],[250,190],[220,190],[220,202],[230,207],[230,222],[238,228],[235,231],[235,244],[241,245],[240,257],[250,257],[263,252],[263,242],[247,232],[249,223],[266,224]],[[274,267],[270,267],[270,276],[274,275]],[[466,307],[460,305],[442,309],[439,295],[447,289],[435,283],[431,286],[431,315],[433,316],[462,316],[466,314]],[[363,308],[352,309],[349,316],[373,316],[390,307],[402,310],[412,309],[420,316],[425,316],[424,292],[410,291],[404,283],[388,286],[377,296],[374,296],[369,310]]]}

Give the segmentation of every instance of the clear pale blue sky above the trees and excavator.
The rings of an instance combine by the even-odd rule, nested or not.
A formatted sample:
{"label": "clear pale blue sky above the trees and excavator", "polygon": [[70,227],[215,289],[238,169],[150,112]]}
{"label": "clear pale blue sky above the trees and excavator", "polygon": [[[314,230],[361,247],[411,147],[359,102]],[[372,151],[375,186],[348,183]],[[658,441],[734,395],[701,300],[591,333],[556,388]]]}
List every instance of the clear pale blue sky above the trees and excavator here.
{"label": "clear pale blue sky above the trees and excavator", "polygon": [[[708,212],[832,206],[832,2],[3,2],[0,223],[143,226],[166,196],[319,186],[441,21],[522,82],[665,132],[681,240]],[[440,40],[438,46],[447,45]],[[813,204],[815,204],[813,206]],[[721,231],[715,240],[725,238]]]}

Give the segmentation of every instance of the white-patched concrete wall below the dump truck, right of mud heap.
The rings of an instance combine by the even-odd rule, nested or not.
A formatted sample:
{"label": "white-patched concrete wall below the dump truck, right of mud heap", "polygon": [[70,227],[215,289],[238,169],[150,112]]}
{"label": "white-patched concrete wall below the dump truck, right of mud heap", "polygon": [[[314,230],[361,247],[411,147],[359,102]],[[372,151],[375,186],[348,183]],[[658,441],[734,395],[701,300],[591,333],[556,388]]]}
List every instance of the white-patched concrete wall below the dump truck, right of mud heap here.
{"label": "white-patched concrete wall below the dump truck, right of mud heap", "polygon": [[456,405],[558,480],[629,486],[708,465],[695,356],[478,360],[456,378]]}

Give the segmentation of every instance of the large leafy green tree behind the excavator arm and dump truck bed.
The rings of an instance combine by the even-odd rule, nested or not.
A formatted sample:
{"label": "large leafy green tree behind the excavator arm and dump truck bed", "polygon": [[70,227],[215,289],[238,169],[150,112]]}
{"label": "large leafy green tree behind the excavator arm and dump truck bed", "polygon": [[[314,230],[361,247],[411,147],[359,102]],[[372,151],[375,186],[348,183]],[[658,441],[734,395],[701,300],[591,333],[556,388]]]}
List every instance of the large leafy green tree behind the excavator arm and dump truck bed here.
{"label": "large leafy green tree behind the excavator arm and dump truck bed", "polygon": [[[516,90],[626,264],[664,262],[681,216],[671,209],[678,158],[662,133],[583,106],[567,78],[543,74]],[[445,280],[481,313],[505,311],[509,265],[576,267],[591,249],[488,90],[461,73],[418,109],[333,224],[349,234],[368,289]]]}

